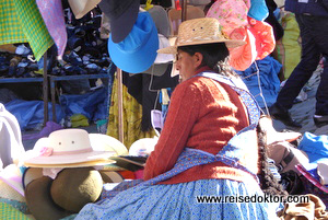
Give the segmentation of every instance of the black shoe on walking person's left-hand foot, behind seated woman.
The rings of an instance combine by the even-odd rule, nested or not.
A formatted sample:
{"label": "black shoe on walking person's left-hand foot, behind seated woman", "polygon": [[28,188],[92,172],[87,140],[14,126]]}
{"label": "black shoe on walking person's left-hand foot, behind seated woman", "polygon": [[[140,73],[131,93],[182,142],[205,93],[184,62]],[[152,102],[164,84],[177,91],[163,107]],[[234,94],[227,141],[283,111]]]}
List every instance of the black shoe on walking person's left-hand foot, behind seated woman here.
{"label": "black shoe on walking person's left-hand foot, behind seated woman", "polygon": [[292,119],[288,109],[277,105],[276,103],[269,108],[270,115],[277,119],[281,120],[284,125],[302,128],[302,125]]}

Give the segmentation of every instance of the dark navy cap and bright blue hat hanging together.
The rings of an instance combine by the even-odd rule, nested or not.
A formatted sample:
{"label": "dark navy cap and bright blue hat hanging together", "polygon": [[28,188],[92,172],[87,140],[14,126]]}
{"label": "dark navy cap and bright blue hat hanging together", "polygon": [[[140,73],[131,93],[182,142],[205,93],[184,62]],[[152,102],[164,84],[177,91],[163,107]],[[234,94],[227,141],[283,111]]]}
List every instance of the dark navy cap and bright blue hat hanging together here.
{"label": "dark navy cap and bright blue hat hanging together", "polygon": [[109,56],[118,68],[129,73],[148,70],[159,49],[155,23],[149,12],[139,12],[139,7],[140,1],[134,0],[103,0],[99,3],[110,22]]}

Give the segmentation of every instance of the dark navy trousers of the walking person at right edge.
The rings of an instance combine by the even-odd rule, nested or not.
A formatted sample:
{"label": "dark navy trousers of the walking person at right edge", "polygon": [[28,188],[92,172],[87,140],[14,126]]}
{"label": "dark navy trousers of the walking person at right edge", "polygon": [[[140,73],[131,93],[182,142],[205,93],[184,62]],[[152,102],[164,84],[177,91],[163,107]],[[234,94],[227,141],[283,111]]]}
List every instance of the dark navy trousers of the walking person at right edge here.
{"label": "dark navy trousers of the walking person at right edge", "polygon": [[296,14],[295,16],[301,31],[302,57],[280,91],[277,103],[286,109],[293,106],[293,101],[311,79],[323,55],[326,59],[316,93],[315,114],[328,115],[328,16],[305,14]]}

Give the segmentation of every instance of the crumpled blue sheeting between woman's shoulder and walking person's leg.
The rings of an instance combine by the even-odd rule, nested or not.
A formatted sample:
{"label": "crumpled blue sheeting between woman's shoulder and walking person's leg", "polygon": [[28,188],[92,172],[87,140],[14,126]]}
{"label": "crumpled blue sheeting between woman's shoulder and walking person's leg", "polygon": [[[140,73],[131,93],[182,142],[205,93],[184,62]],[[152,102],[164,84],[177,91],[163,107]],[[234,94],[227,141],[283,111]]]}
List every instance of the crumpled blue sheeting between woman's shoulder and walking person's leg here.
{"label": "crumpled blue sheeting between woman's shoulder and walking person's leg", "polygon": [[[257,68],[259,70],[260,78],[260,88],[257,76]],[[236,71],[247,85],[249,92],[255,96],[259,106],[263,108],[265,102],[267,106],[270,107],[277,100],[279,90],[280,90],[280,80],[278,73],[282,65],[268,56],[261,60],[255,61],[248,69],[245,71]],[[265,100],[260,95],[260,90]]]}

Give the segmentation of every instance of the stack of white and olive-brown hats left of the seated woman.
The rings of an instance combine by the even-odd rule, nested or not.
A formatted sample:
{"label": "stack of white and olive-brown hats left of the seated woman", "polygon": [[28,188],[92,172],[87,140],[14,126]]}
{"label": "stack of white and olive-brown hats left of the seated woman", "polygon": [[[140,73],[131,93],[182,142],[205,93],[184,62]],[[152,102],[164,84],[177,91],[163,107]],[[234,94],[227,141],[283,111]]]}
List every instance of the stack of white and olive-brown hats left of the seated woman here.
{"label": "stack of white and olive-brown hats left of the seated woman", "polygon": [[110,157],[127,154],[118,140],[83,129],[61,129],[40,138],[22,163],[22,188],[35,219],[60,219],[95,202],[104,183],[121,182],[116,172],[96,170],[113,163]]}

